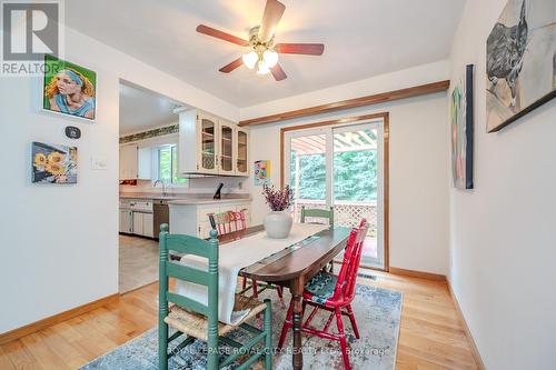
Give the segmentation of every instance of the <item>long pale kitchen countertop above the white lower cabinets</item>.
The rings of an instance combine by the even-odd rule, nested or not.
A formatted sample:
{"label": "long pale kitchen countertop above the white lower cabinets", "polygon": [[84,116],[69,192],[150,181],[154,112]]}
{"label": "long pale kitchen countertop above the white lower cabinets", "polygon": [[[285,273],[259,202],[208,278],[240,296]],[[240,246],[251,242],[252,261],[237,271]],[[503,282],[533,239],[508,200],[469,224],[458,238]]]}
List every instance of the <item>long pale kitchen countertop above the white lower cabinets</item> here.
{"label": "long pale kitchen countertop above the white lower cabinets", "polygon": [[212,199],[212,194],[171,194],[162,196],[159,192],[120,192],[121,199],[152,199],[167,200],[168,204],[197,206],[215,203],[232,203],[238,201],[251,201],[249,194],[222,194],[222,199]]}

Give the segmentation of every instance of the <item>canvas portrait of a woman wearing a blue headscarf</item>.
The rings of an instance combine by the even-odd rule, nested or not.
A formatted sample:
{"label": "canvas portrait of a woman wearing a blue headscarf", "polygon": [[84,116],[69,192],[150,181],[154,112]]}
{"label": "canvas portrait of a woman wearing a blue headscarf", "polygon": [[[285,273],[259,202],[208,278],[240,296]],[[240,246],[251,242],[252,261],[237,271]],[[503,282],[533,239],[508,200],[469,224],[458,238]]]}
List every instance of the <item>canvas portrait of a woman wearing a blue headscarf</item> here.
{"label": "canvas portrait of a woman wearing a blue headscarf", "polygon": [[44,56],[44,70],[42,108],[95,120],[97,73],[49,54]]}

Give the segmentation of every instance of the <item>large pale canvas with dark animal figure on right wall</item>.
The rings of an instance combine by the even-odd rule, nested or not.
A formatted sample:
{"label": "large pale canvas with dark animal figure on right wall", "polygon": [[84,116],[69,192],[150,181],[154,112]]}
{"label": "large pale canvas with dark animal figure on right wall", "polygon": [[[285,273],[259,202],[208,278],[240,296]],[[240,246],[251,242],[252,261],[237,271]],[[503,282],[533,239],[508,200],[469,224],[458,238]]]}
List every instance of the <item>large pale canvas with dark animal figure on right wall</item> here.
{"label": "large pale canvas with dark animal figure on right wall", "polygon": [[556,96],[556,0],[509,0],[487,39],[487,131]]}

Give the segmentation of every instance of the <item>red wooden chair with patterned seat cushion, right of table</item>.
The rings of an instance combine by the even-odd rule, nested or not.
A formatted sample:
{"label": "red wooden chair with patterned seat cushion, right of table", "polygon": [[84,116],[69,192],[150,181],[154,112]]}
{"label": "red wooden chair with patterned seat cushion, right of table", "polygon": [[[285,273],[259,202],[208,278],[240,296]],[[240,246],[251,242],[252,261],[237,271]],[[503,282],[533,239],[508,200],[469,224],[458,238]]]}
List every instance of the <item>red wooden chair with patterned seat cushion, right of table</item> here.
{"label": "red wooden chair with patterned seat cushion, right of table", "polygon": [[[305,308],[307,306],[311,306],[312,311],[301,326],[302,332],[324,339],[339,341],[346,370],[350,369],[350,364],[341,316],[347,316],[349,318],[355,337],[359,339],[359,330],[357,329],[354,310],[351,309],[351,301],[355,298],[357,270],[359,269],[363,244],[365,238],[367,237],[368,228],[369,226],[364,219],[361,220],[358,228],[354,228],[351,230],[351,233],[348,238],[346,251],[344,253],[344,261],[341,262],[341,268],[337,276],[330,272],[319,271],[314,278],[309,280],[304,290],[304,316]],[[291,321],[294,312],[292,310],[294,307],[290,302],[288,313],[286,314],[286,321],[284,322],[284,327],[281,330],[278,349],[281,349],[284,347],[286,336],[294,324]],[[330,312],[330,316],[328,317],[328,320],[326,321],[325,327],[321,330],[309,327],[319,310]],[[329,328],[335,316],[336,326],[338,327],[338,334],[329,332]],[[301,317],[301,320],[304,317]]]}

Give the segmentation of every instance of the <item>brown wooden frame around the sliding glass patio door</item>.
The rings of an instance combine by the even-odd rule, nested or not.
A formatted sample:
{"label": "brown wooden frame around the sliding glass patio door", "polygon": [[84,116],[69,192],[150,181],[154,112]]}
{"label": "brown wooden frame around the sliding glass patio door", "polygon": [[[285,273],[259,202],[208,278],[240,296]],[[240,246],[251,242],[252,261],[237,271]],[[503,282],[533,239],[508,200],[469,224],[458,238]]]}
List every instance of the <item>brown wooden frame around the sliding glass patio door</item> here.
{"label": "brown wooden frame around the sliding glass patio door", "polygon": [[[390,141],[390,129],[389,129],[389,113],[380,112],[380,113],[371,113],[371,114],[363,114],[363,116],[353,116],[345,117],[335,120],[312,122],[306,124],[290,126],[280,129],[280,187],[284,188],[285,181],[285,136],[288,131],[298,131],[305,129],[314,129],[321,128],[325,126],[334,126],[334,124],[346,124],[346,123],[356,123],[360,121],[368,120],[383,120],[383,217],[384,217],[384,269],[365,266],[370,269],[381,270],[388,272],[390,268],[390,190],[389,190],[389,177],[390,177],[390,156],[389,156],[389,141]],[[361,122],[363,123],[363,122]]]}

